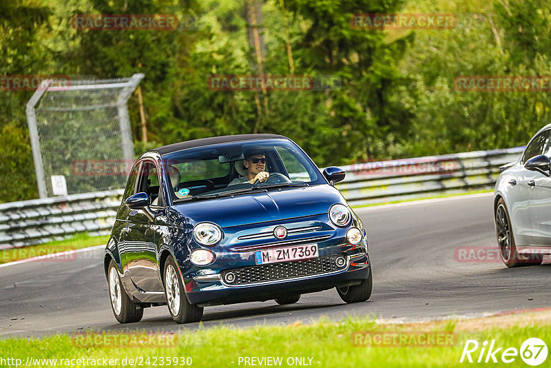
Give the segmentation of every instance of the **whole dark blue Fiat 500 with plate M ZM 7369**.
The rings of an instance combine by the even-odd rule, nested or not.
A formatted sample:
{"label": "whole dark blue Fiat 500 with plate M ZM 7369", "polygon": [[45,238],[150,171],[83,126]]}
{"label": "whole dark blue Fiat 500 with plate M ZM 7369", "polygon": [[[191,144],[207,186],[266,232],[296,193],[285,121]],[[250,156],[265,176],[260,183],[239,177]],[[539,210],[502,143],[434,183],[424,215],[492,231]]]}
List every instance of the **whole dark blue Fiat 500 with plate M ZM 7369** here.
{"label": "whole dark blue Fiat 500 with plate M ZM 7369", "polygon": [[366,231],[333,186],[290,139],[222,136],[143,154],[129,174],[105,248],[113,313],[137,322],[168,305],[177,323],[203,307],[336,287],[346,303],[368,300]]}

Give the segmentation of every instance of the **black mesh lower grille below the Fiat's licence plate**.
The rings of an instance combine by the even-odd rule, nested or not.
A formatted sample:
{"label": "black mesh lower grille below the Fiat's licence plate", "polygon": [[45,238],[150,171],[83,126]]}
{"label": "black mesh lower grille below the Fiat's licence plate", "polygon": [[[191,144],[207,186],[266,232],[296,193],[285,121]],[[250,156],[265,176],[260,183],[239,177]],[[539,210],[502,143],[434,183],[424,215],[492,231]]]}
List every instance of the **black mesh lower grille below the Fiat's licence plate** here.
{"label": "black mesh lower grille below the Fiat's licence plate", "polygon": [[[236,269],[228,269],[221,272],[222,280],[228,286],[265,283],[275,280],[286,280],[304,276],[330,274],[346,269],[348,262],[342,267],[337,266],[335,260],[342,256],[325,256],[311,260],[295,260],[292,262],[270,263],[268,265],[250,266]],[[235,276],[233,283],[228,283],[226,275],[232,273]]]}

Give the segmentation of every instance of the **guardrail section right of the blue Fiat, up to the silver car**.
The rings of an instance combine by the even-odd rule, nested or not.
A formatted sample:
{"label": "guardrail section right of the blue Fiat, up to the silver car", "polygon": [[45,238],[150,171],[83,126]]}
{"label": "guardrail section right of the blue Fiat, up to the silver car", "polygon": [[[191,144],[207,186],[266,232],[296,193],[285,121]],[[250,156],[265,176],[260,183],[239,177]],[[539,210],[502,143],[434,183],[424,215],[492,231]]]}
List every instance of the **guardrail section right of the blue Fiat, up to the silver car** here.
{"label": "guardrail section right of the blue Fiat, up to the silver car", "polygon": [[517,161],[524,147],[359,163],[342,167],[336,187],[350,205],[369,205],[493,189],[499,167]]}

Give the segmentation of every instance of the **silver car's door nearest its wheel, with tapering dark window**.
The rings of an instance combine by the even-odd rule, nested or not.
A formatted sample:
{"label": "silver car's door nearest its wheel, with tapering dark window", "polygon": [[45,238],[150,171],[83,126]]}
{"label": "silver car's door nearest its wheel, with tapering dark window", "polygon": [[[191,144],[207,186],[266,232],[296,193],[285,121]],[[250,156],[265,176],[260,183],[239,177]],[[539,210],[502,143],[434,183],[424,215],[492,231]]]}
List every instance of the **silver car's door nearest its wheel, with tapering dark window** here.
{"label": "silver car's door nearest its wheel, with tapering dark window", "polygon": [[517,241],[517,245],[536,245],[538,244],[537,238],[537,229],[534,224],[534,210],[533,206],[536,199],[534,194],[534,183],[539,180],[539,177],[542,175],[539,172],[533,170],[528,170],[524,167],[526,161],[532,159],[534,156],[542,154],[543,147],[548,141],[548,131],[541,132],[534,136],[534,139],[530,141],[526,150],[524,150],[521,167],[519,167],[519,176],[518,176],[518,186],[521,192],[521,196],[517,201],[514,221],[516,221],[517,233],[520,234],[517,238],[520,238],[520,241]]}

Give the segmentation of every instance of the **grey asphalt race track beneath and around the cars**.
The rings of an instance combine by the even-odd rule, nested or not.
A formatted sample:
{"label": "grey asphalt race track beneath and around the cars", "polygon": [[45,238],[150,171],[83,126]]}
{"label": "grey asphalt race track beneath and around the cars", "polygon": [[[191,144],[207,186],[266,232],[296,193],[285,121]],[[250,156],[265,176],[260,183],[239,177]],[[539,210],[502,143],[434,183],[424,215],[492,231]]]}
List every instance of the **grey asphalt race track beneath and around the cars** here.
{"label": "grey asphalt race track beneath and around the cars", "polygon": [[[205,308],[205,327],[308,323],[325,316],[397,320],[551,307],[550,265],[508,269],[501,260],[460,262],[458,247],[497,247],[492,195],[444,198],[357,209],[367,226],[373,294],[346,305],[335,289],[306,294],[295,305],[273,300]],[[493,255],[497,253],[493,252]],[[167,307],[145,309],[141,323],[116,322],[103,275],[102,249],[68,262],[35,261],[0,268],[0,337],[86,329],[179,331]]]}

